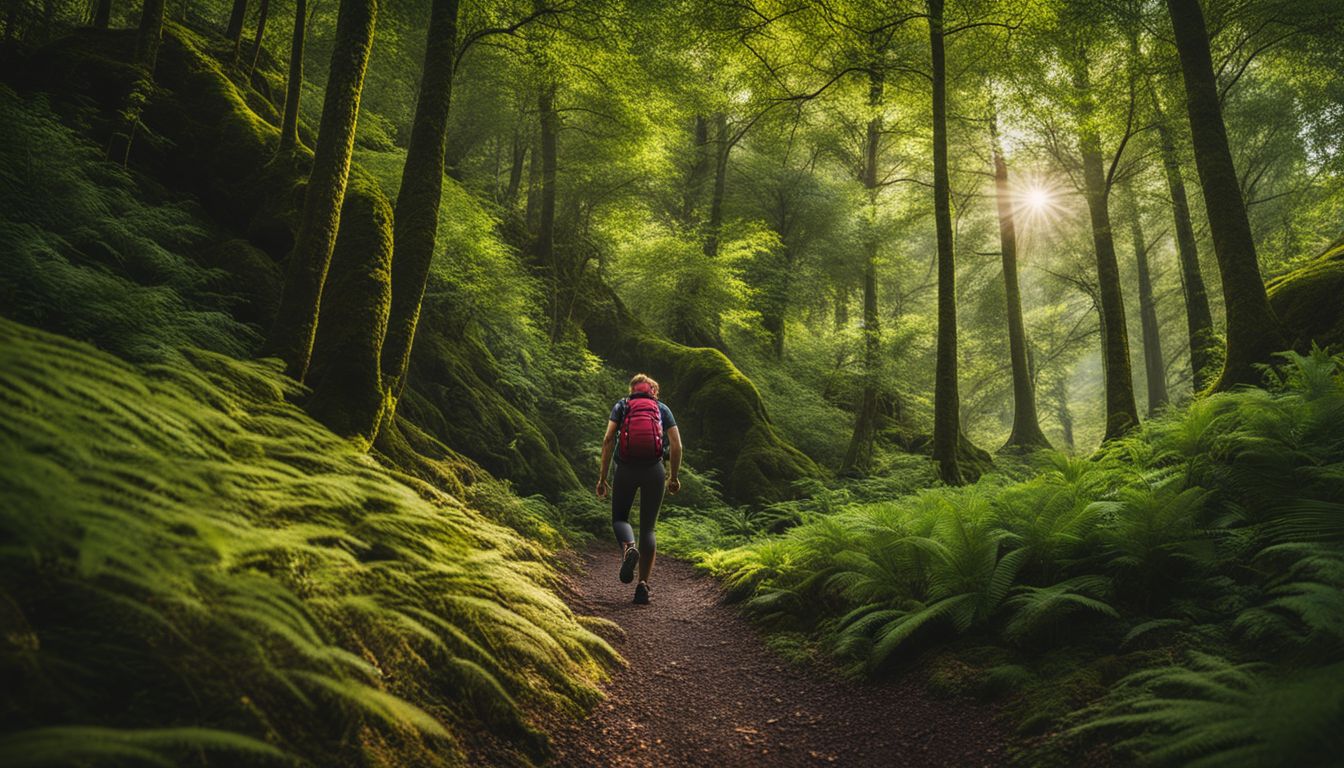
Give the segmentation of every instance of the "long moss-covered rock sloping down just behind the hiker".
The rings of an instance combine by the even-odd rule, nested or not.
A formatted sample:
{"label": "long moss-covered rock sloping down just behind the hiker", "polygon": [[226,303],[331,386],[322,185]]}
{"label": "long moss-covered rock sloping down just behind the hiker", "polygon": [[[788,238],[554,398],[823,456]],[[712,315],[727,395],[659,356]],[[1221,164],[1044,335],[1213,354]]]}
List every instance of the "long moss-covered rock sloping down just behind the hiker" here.
{"label": "long moss-covered rock sloping down just behind the hiker", "polygon": [[687,449],[719,472],[728,499],[790,499],[798,495],[796,480],[821,475],[812,459],[775,433],[761,393],[723,352],[659,336],[597,277],[587,280],[582,295],[578,315],[589,347],[617,366],[659,381]]}

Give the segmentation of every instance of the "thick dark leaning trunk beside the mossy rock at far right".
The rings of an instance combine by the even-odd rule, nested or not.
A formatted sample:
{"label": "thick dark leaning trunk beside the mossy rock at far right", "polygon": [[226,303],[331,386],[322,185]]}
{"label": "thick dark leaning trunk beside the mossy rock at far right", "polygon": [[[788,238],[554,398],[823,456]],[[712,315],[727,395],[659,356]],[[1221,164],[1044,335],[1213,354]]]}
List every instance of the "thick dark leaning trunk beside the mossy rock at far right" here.
{"label": "thick dark leaning trunk beside the mossy rock at far right", "polygon": [[1274,352],[1288,347],[1288,342],[1269,304],[1255,257],[1246,202],[1227,145],[1204,13],[1199,0],[1167,0],[1167,9],[1176,35],[1195,167],[1204,192],[1204,210],[1227,311],[1227,355],[1214,389],[1254,385],[1261,381],[1257,364],[1270,362]]}

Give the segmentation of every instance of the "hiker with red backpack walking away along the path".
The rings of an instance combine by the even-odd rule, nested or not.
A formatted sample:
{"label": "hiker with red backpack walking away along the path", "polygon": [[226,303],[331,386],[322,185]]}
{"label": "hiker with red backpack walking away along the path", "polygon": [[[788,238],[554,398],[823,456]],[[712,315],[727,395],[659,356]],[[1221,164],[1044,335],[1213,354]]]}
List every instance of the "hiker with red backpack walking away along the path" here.
{"label": "hiker with red backpack walking away along the path", "polygon": [[[645,605],[649,601],[649,572],[653,570],[653,526],[659,522],[659,506],[663,503],[664,460],[672,465],[665,472],[668,492],[681,490],[681,480],[676,476],[681,468],[681,432],[676,428],[676,418],[672,418],[672,409],[659,401],[659,382],[646,374],[634,374],[630,394],[612,408],[606,436],[602,437],[602,468],[597,479],[599,499],[607,495],[606,468],[613,448],[612,527],[616,541],[621,542],[621,581],[629,584],[638,564],[640,582],[634,586],[634,601]],[[638,546],[630,527],[636,491],[640,491]]]}

